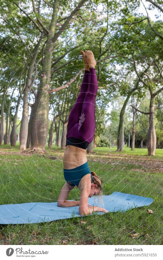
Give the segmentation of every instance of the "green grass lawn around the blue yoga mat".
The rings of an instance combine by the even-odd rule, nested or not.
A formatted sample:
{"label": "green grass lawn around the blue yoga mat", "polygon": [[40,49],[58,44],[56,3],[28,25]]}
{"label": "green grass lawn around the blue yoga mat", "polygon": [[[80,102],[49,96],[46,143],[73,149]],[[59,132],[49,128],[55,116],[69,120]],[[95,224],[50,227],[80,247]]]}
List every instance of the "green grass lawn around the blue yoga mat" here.
{"label": "green grass lawn around the blue yoga mat", "polygon": [[[19,144],[0,146],[0,204],[24,202],[55,202],[65,183],[62,157],[64,151],[53,146],[47,154],[23,155]],[[116,152],[116,147],[95,148],[88,154],[88,164],[103,181],[103,194],[113,191],[150,197],[154,202],[147,207],[125,213],[107,213],[81,218],[57,220],[39,224],[0,225],[0,244],[161,244],[162,232],[162,164],[163,150],[156,156],[146,156],[147,149],[131,151],[127,147]],[[49,156],[57,156],[51,160]],[[75,188],[69,199],[79,200]],[[148,214],[152,209],[154,214]],[[84,220],[86,224],[81,224]],[[132,239],[131,234],[140,233]],[[146,236],[148,234],[148,236]]]}

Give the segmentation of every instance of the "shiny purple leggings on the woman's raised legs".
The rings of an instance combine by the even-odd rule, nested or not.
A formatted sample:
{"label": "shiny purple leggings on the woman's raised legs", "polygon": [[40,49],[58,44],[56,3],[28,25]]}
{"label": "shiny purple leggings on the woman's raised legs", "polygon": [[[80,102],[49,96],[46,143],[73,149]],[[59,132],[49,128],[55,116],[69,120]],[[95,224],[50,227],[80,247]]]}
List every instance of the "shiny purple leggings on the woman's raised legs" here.
{"label": "shiny purple leggings on the woman's raised legs", "polygon": [[79,96],[68,122],[66,138],[76,137],[91,143],[95,132],[95,97],[98,90],[96,71],[85,70]]}

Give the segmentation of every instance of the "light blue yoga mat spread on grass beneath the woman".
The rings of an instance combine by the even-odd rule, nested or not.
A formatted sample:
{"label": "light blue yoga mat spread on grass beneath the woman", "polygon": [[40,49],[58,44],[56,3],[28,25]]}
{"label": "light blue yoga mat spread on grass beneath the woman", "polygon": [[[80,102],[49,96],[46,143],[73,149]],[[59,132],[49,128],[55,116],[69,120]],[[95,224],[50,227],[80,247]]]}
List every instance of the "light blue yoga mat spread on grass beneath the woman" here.
{"label": "light blue yoga mat spread on grass beneath the woman", "polygon": [[[150,205],[152,198],[141,197],[114,191],[103,196],[104,208],[109,212],[126,211]],[[94,204],[94,197],[88,198],[88,203]],[[97,214],[107,214],[95,212]],[[20,204],[0,205],[0,224],[41,223],[53,220],[81,217],[79,207],[57,207],[57,202],[29,202]]]}

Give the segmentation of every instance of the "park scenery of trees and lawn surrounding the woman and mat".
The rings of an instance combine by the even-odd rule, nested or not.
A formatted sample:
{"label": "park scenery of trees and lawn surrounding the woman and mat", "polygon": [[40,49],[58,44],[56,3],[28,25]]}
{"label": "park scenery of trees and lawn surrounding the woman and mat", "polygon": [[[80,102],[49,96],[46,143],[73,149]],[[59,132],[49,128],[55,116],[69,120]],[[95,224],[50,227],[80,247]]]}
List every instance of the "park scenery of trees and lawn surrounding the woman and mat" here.
{"label": "park scenery of trees and lawn surrounding the woman and mat", "polygon": [[57,201],[69,112],[84,73],[80,50],[91,50],[98,94],[89,166],[104,195],[151,197],[154,214],[139,208],[82,217],[85,224],[4,225],[1,244],[161,244],[162,12],[158,0],[3,1],[1,204]]}

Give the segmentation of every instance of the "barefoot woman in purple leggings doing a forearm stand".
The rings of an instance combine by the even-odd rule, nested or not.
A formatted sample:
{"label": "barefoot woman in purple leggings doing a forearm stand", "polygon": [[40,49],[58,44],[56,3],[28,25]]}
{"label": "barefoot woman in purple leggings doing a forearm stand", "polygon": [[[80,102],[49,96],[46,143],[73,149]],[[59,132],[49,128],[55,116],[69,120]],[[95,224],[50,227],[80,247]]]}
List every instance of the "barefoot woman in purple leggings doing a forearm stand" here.
{"label": "barefoot woman in purple leggings doing a forearm stand", "polygon": [[[79,96],[73,106],[68,122],[66,148],[63,157],[66,183],[61,189],[57,205],[71,207],[79,205],[79,213],[88,215],[93,211],[107,212],[106,209],[88,204],[88,197],[102,196],[102,181],[87,163],[86,148],[92,142],[95,132],[95,97],[98,82],[95,72],[96,61],[92,51],[81,51],[85,64],[83,82]],[[66,198],[75,186],[80,189],[80,201]]]}

